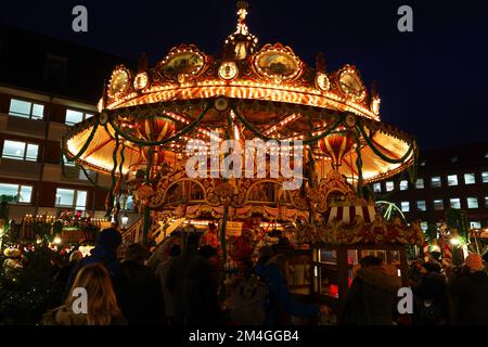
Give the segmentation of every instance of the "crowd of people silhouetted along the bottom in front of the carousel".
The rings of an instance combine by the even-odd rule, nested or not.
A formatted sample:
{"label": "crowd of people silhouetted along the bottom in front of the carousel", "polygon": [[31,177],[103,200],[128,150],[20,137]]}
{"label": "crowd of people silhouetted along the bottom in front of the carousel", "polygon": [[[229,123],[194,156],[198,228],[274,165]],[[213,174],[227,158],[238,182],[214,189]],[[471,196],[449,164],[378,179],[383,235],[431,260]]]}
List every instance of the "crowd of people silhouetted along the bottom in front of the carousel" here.
{"label": "crowd of people silhouetted along the bottom in front of the carousel", "polygon": [[[241,241],[246,237],[243,233]],[[213,224],[203,236],[190,233],[165,252],[152,254],[134,243],[119,259],[120,245],[120,233],[110,228],[100,233],[89,256],[74,250],[64,261],[55,255],[51,273],[65,288],[63,304],[49,309],[40,324],[287,325],[300,318],[320,324],[323,317],[334,317],[336,323],[337,316],[344,325],[488,324],[488,259],[477,254],[468,255],[462,267],[438,257],[413,261],[408,272],[413,314],[404,316],[397,309],[398,268],[374,256],[363,257],[354,269],[345,304],[334,311],[295,300],[288,258],[269,245],[258,248],[254,261],[252,249],[244,252],[237,257],[240,275],[232,283],[224,281]],[[16,254],[11,256],[5,264],[9,275],[20,270],[12,260]],[[80,310],[80,288],[87,294],[86,310]]]}

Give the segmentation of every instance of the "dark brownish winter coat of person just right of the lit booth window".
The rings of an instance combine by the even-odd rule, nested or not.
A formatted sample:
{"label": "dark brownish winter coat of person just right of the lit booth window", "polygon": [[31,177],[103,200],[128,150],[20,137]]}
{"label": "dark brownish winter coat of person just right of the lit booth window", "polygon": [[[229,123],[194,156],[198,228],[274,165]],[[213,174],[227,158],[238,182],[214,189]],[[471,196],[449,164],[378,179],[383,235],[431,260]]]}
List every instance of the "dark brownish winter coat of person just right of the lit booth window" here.
{"label": "dark brownish winter coat of person just right of the lit booth window", "polygon": [[361,268],[347,293],[344,323],[391,325],[400,280],[388,275],[382,267]]}

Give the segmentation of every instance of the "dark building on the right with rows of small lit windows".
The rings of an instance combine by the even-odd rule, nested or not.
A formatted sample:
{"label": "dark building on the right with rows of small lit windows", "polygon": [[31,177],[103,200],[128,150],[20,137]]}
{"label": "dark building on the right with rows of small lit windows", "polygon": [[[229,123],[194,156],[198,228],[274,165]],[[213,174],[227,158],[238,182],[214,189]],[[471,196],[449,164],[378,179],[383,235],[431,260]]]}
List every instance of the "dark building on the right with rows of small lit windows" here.
{"label": "dark building on the right with rows of small lit windows", "polygon": [[448,208],[467,213],[471,228],[488,228],[488,142],[424,152],[414,184],[406,176],[372,184],[408,221],[440,223]]}

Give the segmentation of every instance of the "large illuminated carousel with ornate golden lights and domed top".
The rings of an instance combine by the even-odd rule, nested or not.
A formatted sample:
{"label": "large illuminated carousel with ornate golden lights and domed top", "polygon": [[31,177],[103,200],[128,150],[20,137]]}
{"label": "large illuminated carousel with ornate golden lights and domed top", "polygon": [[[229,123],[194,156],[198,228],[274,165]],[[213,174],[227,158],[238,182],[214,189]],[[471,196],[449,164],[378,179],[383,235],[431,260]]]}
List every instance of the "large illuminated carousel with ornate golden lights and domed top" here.
{"label": "large illuminated carousel with ornate golden lights and domed top", "polygon": [[[236,29],[216,55],[181,44],[153,67],[145,54],[137,70],[117,66],[99,115],[73,127],[62,151],[112,177],[107,217],[125,213],[133,196],[136,241],[154,245],[175,223],[213,221],[226,262],[245,231],[255,246],[281,230],[297,259],[296,290],[343,298],[362,256],[401,269],[404,246],[423,243],[419,224],[385,221],[364,196],[364,187],[403,170],[413,179],[416,142],[381,121],[376,88],[356,66],[329,70],[321,53],[310,66],[287,46],[259,44],[247,14],[237,1]],[[275,156],[288,170],[271,165]]]}

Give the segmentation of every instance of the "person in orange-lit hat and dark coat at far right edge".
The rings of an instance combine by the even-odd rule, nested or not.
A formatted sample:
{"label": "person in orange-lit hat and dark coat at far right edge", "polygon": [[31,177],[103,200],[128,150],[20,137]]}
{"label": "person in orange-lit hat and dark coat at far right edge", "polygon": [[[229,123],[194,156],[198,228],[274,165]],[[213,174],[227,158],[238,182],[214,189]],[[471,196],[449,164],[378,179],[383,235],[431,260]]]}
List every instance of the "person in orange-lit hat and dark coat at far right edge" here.
{"label": "person in orange-lit hat and dark coat at far right edge", "polygon": [[488,325],[488,275],[483,258],[470,254],[461,274],[449,288],[453,300],[453,323],[459,325]]}

